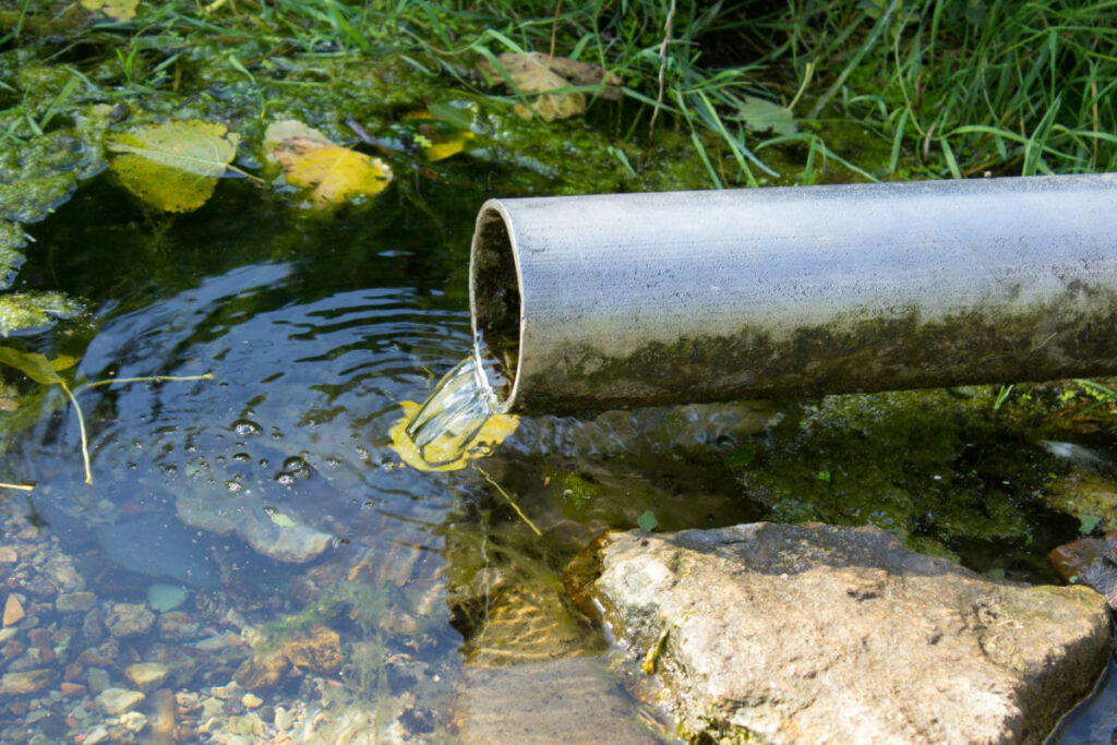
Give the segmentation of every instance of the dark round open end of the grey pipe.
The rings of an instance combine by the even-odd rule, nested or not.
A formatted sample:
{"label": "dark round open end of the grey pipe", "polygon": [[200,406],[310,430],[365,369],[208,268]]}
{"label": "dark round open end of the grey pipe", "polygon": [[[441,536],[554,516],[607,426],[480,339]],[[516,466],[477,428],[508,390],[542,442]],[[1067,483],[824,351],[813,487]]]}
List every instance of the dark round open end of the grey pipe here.
{"label": "dark round open end of the grey pipe", "polygon": [[519,273],[503,211],[484,207],[477,217],[469,268],[469,304],[478,383],[489,409],[504,413],[519,363]]}

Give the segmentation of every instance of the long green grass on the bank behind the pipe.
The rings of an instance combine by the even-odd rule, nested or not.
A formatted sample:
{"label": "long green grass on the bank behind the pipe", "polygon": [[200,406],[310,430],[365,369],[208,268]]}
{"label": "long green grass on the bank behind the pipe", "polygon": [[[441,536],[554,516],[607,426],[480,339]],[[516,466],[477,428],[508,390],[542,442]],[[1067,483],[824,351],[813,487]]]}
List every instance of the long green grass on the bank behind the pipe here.
{"label": "long green grass on the bank behind the pipe", "polygon": [[[60,7],[23,0],[3,44]],[[166,0],[82,35],[117,39],[137,93],[173,84],[174,55],[212,38],[245,49],[229,57],[248,78],[275,55],[397,55],[489,95],[478,60],[553,42],[624,80],[591,124],[649,145],[682,133],[715,187],[1117,170],[1114,1]],[[794,124],[766,131],[756,99]]]}

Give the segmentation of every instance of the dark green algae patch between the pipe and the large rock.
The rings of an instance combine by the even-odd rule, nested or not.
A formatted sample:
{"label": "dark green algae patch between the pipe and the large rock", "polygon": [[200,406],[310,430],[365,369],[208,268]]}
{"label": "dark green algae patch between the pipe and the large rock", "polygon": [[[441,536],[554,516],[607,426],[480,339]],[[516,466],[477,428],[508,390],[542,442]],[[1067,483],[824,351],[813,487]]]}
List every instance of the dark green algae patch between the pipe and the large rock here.
{"label": "dark green algae patch between the pipe and the large rock", "polygon": [[[954,558],[982,543],[1018,556],[1037,552],[1067,538],[1066,520],[1054,519],[1044,502],[1049,475],[1067,467],[1033,438],[1059,437],[1066,427],[1042,423],[1048,409],[1040,397],[994,417],[995,393],[972,388],[799,403],[766,441],[754,443],[752,460],[727,459],[727,467],[742,497],[765,505],[773,522],[876,525],[917,551]],[[1049,573],[1041,560],[1029,563],[1040,576]]]}

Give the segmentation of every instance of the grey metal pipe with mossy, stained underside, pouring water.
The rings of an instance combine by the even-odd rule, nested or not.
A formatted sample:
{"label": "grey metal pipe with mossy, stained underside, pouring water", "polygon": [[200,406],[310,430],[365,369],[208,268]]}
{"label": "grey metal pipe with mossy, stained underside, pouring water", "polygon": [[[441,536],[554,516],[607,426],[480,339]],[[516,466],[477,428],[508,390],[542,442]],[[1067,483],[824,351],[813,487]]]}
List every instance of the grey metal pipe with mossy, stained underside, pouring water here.
{"label": "grey metal pipe with mossy, stained underside, pouring water", "polygon": [[1117,174],[496,199],[495,412],[1117,373]]}

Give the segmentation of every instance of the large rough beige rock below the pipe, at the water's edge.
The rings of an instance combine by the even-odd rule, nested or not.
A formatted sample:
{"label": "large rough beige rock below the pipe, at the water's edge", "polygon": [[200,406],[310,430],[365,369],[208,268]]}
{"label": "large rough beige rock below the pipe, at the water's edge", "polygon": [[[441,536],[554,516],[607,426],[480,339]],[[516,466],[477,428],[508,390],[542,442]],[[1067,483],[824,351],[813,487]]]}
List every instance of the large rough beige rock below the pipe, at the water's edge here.
{"label": "large rough beige rock below the pipe, at the water's edge", "polygon": [[993,582],[876,528],[611,534],[595,593],[689,737],[1039,743],[1109,655],[1101,595]]}

